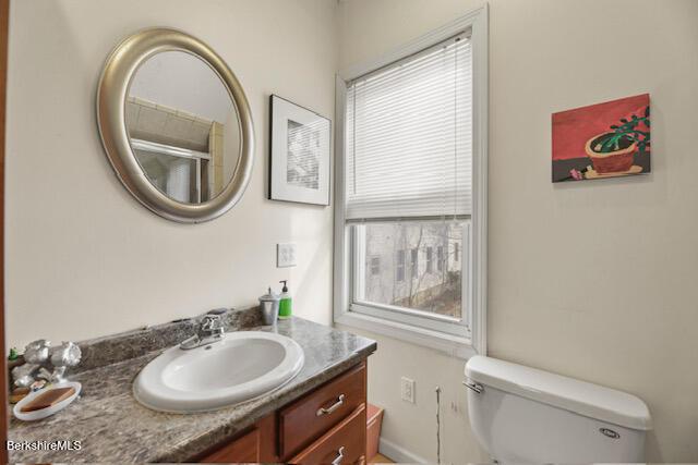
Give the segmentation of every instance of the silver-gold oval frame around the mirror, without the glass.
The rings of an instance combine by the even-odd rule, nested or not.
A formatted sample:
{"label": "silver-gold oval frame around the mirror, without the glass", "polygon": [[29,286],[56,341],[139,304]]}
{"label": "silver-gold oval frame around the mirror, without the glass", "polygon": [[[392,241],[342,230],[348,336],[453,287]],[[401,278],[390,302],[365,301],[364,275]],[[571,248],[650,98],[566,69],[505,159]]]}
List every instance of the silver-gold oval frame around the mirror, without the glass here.
{"label": "silver-gold oval frame around the mirror, without the glass", "polygon": [[[240,157],[232,179],[215,198],[183,204],[169,198],[151,183],[135,158],[125,124],[125,102],[133,75],[147,59],[165,51],[191,53],[218,74],[238,110]],[[97,125],[101,143],[117,176],[145,207],[168,220],[200,223],[224,215],[242,198],[254,164],[254,127],[244,90],[226,62],[210,47],[185,33],[149,28],[128,37],[107,58],[97,87]]]}

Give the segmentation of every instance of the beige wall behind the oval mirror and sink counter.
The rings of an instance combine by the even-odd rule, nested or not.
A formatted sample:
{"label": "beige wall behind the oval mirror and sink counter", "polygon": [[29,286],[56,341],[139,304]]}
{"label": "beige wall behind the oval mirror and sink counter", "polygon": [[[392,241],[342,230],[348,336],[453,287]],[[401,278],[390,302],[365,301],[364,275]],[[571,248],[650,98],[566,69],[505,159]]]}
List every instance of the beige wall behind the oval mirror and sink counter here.
{"label": "beige wall behind the oval mirror and sink counter", "polygon": [[[256,302],[290,279],[298,315],[330,322],[332,208],[266,200],[268,96],[332,117],[327,0],[15,0],[7,167],[8,341],[79,340]],[[245,88],[256,134],[241,203],[205,224],[143,208],[105,157],[95,89],[118,41],[166,25],[208,42]],[[277,242],[298,244],[277,269]]]}

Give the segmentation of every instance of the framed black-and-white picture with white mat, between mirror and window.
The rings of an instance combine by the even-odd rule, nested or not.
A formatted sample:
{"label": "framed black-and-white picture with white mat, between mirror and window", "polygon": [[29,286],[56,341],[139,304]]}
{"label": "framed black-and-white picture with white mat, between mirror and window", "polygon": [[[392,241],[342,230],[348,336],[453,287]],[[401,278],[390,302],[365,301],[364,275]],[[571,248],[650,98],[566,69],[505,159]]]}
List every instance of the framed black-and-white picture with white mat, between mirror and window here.
{"label": "framed black-and-white picture with white mat, between mirror and window", "polygon": [[332,122],[276,95],[269,106],[269,199],[328,206]]}

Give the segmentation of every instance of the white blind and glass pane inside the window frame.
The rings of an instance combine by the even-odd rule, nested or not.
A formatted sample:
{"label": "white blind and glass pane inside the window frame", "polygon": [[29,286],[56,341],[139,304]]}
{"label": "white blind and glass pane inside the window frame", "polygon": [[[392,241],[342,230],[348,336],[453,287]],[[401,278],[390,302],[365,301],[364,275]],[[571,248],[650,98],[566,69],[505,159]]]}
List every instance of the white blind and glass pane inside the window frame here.
{"label": "white blind and glass pane inside the window frame", "polygon": [[[426,244],[457,250],[471,213],[471,69],[467,33],[353,79],[347,88],[346,208],[356,262],[397,250],[382,286],[354,267],[353,301],[401,320],[445,317],[462,330],[464,270],[420,269]],[[454,255],[455,256],[455,255]],[[457,261],[457,260],[456,260]],[[370,313],[373,309],[369,308]]]}

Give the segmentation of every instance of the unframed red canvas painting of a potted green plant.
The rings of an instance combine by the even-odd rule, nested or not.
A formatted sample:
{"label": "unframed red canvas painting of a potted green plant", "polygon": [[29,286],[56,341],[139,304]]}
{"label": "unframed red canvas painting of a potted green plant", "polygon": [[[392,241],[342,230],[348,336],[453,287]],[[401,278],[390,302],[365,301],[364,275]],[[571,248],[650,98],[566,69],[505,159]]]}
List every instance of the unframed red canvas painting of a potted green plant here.
{"label": "unframed red canvas painting of a potted green plant", "polygon": [[553,182],[649,173],[650,96],[553,113]]}

